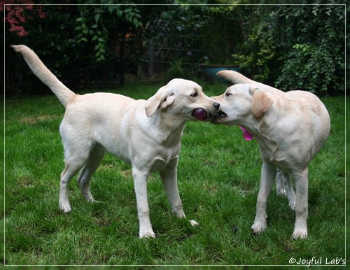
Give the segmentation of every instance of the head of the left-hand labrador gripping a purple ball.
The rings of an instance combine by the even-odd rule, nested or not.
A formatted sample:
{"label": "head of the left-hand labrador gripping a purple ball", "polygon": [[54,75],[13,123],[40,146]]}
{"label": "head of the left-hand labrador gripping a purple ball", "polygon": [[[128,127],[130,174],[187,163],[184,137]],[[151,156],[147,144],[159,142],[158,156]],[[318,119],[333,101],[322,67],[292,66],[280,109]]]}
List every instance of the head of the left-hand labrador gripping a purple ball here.
{"label": "head of the left-hand labrador gripping a purple ball", "polygon": [[145,111],[148,118],[160,110],[183,120],[211,120],[219,107],[220,104],[207,97],[197,83],[174,79],[146,101]]}

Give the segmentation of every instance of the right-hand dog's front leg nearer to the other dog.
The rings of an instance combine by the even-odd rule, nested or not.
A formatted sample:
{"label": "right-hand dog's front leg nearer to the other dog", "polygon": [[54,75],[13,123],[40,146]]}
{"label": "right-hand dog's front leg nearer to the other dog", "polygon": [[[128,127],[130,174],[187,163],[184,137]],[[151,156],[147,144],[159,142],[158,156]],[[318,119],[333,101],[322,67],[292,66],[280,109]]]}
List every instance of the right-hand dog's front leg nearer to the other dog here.
{"label": "right-hand dog's front leg nearer to the other dog", "polygon": [[256,214],[254,224],[251,226],[253,232],[258,234],[267,228],[267,198],[271,192],[274,178],[276,177],[276,166],[271,163],[264,162],[261,168],[260,189],[258,200],[256,202]]}

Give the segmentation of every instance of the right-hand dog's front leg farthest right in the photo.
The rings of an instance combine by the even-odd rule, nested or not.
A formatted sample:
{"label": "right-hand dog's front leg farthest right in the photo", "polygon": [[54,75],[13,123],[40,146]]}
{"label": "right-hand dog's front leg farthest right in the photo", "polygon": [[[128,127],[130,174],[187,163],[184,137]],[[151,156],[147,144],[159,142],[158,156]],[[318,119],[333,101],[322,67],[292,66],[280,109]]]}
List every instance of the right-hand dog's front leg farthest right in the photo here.
{"label": "right-hand dog's front leg farthest right in the photo", "polygon": [[307,177],[309,170],[293,173],[295,180],[296,204],[295,204],[295,225],[293,238],[307,238]]}

